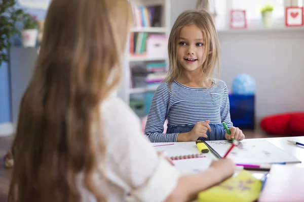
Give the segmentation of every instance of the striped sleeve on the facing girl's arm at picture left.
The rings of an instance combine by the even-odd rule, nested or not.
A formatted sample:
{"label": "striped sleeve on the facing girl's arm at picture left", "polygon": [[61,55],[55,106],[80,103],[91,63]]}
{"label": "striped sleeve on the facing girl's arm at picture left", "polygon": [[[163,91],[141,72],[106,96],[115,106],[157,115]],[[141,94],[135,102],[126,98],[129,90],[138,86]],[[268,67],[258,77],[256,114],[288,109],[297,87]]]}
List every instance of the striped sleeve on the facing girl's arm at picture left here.
{"label": "striped sleeve on the facing girl's arm at picture left", "polygon": [[170,109],[171,92],[167,83],[162,83],[153,95],[144,134],[151,142],[176,142],[178,133],[165,134],[164,123]]}

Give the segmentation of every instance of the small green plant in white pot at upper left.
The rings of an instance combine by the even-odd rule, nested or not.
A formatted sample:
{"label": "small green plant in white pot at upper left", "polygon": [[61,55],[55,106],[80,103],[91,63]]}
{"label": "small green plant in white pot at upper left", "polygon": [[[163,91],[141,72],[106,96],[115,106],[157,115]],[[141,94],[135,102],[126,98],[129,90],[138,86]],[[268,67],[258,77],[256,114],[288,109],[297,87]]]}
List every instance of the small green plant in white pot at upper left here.
{"label": "small green plant in white pot at upper left", "polygon": [[21,31],[22,45],[24,47],[35,47],[38,36],[38,21],[37,17],[25,13],[21,22],[23,23],[23,30]]}

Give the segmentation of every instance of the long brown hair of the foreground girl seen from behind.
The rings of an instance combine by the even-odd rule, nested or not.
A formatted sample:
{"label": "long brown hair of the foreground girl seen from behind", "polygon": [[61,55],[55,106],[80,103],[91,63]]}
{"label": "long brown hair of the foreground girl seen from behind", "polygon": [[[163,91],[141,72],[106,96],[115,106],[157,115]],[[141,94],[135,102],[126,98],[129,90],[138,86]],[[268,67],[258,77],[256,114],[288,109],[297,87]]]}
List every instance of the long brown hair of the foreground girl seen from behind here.
{"label": "long brown hair of the foreground girl seen from behind", "polygon": [[126,0],[52,1],[20,104],[9,202],[81,201],[81,173],[86,189],[106,200],[93,180],[105,143],[92,125],[120,81],[131,19]]}

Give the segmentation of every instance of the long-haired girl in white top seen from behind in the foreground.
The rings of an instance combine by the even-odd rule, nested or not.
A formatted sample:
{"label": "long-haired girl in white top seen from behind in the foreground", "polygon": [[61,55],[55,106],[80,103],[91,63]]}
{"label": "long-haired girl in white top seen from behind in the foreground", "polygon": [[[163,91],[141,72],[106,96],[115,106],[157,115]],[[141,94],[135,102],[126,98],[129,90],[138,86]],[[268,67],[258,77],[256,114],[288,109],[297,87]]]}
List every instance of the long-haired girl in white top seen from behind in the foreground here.
{"label": "long-haired girl in white top seen from behind in the foreground", "polygon": [[187,201],[234,172],[180,176],[116,95],[131,26],[126,0],[53,0],[22,97],[9,202]]}

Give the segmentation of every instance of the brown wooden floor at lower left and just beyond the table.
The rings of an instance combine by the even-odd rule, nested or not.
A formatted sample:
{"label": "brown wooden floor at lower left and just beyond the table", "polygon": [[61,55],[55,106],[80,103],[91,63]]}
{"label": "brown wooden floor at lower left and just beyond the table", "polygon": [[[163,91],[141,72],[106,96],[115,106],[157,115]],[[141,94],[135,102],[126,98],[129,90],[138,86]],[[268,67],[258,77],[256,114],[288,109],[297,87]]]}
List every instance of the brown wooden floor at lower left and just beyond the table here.
{"label": "brown wooden floor at lower left and just beyond the table", "polygon": [[[270,136],[268,134],[263,133],[262,131],[243,131],[245,137],[248,138],[265,138],[265,137],[277,137]],[[2,159],[2,163],[0,164],[0,202],[6,202],[6,195],[9,189],[11,169],[4,168],[4,156],[9,150],[11,143],[13,140],[13,136],[8,137],[0,137],[0,158]]]}

